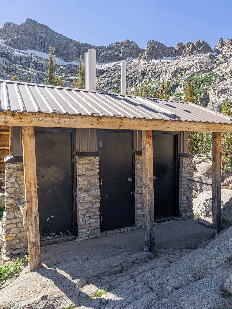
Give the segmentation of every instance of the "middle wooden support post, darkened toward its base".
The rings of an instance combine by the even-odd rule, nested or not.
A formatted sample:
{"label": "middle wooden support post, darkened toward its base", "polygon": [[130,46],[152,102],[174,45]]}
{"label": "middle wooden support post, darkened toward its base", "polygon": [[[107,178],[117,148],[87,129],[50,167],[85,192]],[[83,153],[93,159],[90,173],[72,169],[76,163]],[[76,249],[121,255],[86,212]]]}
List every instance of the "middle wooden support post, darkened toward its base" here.
{"label": "middle wooden support post, darkened toward its base", "polygon": [[144,183],[144,251],[155,251],[154,188],[153,188],[153,137],[152,130],[142,130],[143,183]]}

